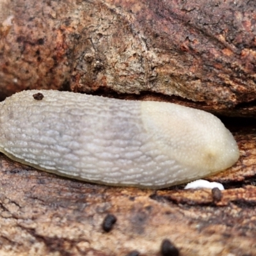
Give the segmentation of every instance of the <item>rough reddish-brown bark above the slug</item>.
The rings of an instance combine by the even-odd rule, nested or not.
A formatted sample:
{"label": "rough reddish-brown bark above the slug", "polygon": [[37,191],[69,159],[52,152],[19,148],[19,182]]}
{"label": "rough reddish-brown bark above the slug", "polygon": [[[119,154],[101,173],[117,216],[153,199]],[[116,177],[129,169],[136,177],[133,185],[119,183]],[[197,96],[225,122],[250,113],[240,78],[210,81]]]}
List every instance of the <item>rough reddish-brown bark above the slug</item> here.
{"label": "rough reddish-brown bark above the slug", "polygon": [[255,115],[255,1],[1,0],[0,24],[2,99],[111,89]]}

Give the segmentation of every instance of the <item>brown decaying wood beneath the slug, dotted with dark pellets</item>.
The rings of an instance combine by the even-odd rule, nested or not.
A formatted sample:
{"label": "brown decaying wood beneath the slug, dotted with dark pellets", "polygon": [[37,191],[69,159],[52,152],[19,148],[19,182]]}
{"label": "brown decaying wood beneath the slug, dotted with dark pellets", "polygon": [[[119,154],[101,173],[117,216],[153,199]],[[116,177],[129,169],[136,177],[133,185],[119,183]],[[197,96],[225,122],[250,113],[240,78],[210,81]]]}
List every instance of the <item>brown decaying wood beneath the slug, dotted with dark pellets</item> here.
{"label": "brown decaying wood beneath the slug, dotted with dark pellets", "polygon": [[[0,255],[256,255],[255,124],[233,129],[241,157],[210,177],[226,190],[143,190],[57,177],[0,154]],[[116,216],[110,232],[102,222]]]}

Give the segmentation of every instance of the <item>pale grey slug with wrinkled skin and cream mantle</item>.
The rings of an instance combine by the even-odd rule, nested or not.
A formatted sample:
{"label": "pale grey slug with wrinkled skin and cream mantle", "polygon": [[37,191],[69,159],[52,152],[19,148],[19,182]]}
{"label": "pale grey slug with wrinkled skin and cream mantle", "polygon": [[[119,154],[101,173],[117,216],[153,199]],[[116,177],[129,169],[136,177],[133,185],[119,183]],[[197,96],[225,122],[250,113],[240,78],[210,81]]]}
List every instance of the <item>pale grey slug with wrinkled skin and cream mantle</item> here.
{"label": "pale grey slug with wrinkled skin and cream mantle", "polygon": [[150,189],[200,179],[239,158],[232,134],[205,111],[54,90],[0,102],[0,151],[58,175]]}

